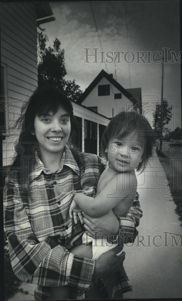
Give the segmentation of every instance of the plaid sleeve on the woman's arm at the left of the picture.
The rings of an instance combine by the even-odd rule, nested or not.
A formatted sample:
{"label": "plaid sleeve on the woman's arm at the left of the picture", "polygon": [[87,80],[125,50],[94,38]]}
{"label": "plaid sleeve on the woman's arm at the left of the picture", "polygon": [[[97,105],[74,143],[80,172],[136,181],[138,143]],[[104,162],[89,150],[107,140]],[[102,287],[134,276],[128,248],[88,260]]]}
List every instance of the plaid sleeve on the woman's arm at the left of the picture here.
{"label": "plaid sleeve on the woman's arm at the left of the picture", "polygon": [[27,215],[18,183],[11,179],[4,187],[4,229],[12,269],[21,281],[89,289],[95,261],[69,253],[56,244],[54,237],[39,242],[32,231],[31,216]]}

